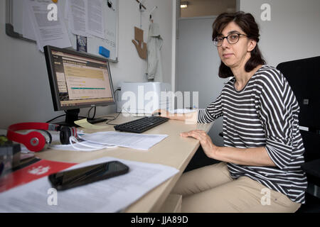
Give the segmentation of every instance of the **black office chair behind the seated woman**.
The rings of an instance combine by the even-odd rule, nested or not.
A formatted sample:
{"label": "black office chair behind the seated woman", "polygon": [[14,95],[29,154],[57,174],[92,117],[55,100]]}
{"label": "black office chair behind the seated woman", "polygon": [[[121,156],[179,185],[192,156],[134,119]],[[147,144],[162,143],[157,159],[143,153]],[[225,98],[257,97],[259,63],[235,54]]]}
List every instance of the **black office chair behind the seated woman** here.
{"label": "black office chair behind the seated woman", "polygon": [[320,56],[302,60],[282,62],[277,69],[284,74],[299,102],[299,125],[308,128],[300,130],[304,142],[304,164],[308,189],[306,204],[298,213],[320,212]]}

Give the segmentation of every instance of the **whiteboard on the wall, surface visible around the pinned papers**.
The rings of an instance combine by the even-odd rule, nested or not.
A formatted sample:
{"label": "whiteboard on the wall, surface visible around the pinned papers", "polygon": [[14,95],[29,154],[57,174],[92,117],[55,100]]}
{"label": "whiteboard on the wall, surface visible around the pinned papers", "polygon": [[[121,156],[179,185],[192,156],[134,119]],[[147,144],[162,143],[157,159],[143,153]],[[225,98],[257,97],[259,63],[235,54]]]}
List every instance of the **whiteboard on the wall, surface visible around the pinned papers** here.
{"label": "whiteboard on the wall, surface visible around the pinned papers", "polygon": [[[24,1],[24,0],[23,0]],[[35,42],[23,37],[23,1],[21,0],[6,0],[6,34],[14,37],[21,38]],[[66,0],[58,0],[65,9]],[[105,39],[98,38],[96,36],[87,37],[87,52],[92,55],[99,55],[99,47],[103,46],[107,50],[110,50],[110,62],[118,62],[118,0],[109,0],[112,3],[112,8],[107,4],[107,0],[102,0],[102,11],[105,20]],[[68,18],[65,16],[65,11],[62,10],[62,16],[64,18],[65,26],[68,29]],[[68,35],[70,42],[73,45],[73,49],[77,49],[76,35],[71,33],[68,29]]]}

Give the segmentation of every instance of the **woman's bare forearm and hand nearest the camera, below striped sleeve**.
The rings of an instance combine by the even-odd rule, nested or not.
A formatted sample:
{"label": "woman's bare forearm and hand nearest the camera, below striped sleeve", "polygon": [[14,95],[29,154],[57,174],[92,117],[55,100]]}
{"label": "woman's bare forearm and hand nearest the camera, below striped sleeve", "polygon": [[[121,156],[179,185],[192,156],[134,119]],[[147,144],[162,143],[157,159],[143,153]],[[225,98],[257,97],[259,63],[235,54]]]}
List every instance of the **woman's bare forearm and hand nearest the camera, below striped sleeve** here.
{"label": "woman's bare forearm and hand nearest the camera, below striped sleeve", "polygon": [[272,162],[267,150],[260,148],[230,148],[217,147],[212,143],[211,138],[205,131],[195,130],[181,133],[182,137],[191,136],[200,141],[203,151],[210,158],[223,162],[235,163],[238,165],[252,166],[272,166],[276,165]]}

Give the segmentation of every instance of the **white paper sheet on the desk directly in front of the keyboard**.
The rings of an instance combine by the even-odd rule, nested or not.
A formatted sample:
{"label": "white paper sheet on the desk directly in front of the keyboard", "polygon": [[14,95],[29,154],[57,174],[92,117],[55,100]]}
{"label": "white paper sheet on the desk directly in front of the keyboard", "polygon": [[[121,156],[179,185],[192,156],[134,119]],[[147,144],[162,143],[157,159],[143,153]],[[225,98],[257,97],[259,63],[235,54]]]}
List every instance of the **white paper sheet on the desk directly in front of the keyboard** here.
{"label": "white paper sheet on the desk directly in front of the keyboard", "polygon": [[81,135],[80,138],[92,143],[114,145],[124,148],[148,150],[152,146],[164,140],[168,135],[119,133],[114,131],[99,132]]}

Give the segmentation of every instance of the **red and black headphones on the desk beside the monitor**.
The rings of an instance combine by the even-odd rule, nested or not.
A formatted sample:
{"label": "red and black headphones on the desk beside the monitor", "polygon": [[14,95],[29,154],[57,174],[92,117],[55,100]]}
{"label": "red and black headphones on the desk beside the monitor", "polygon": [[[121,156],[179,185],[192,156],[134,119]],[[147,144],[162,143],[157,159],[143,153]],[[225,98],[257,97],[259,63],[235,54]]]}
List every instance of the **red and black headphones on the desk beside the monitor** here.
{"label": "red and black headphones on the desk beside the monitor", "polygon": [[[23,135],[15,131],[34,129],[33,131]],[[60,131],[60,142],[69,144],[70,136],[77,137],[77,128],[68,126],[59,126],[50,123],[16,123],[9,126],[6,137],[9,140],[22,143],[28,150],[38,152],[46,150],[52,141],[52,136],[48,131]]]}

